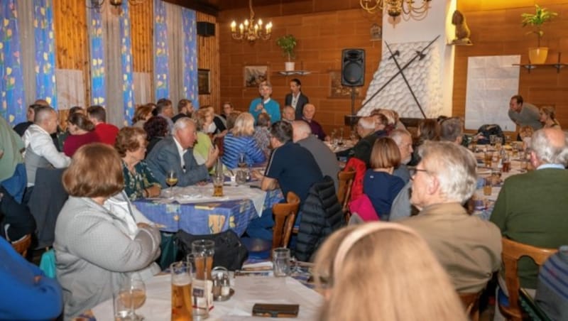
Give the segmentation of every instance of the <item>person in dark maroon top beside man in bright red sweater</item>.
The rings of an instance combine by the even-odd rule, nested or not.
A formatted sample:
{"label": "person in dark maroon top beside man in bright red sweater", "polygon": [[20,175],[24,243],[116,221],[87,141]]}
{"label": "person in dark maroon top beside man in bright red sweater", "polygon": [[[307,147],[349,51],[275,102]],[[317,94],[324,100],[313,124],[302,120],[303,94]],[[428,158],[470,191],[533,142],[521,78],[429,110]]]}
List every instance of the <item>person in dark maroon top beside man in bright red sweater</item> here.
{"label": "person in dark maroon top beside man in bright red sweater", "polygon": [[100,141],[97,133],[94,132],[94,124],[87,116],[81,113],[71,114],[67,119],[67,131],[69,136],[63,143],[63,153],[73,157],[75,151],[87,143],[98,143]]}

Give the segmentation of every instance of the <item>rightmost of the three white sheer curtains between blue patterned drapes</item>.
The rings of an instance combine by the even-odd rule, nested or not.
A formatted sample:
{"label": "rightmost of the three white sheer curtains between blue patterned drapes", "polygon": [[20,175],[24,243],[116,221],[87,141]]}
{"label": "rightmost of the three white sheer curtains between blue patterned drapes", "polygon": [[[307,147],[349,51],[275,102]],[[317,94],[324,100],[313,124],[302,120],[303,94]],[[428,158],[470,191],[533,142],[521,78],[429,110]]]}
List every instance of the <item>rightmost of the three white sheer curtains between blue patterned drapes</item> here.
{"label": "rightmost of the three white sheer curtains between blue patterned drapes", "polygon": [[174,109],[183,99],[183,36],[182,7],[165,2],[168,27],[168,67],[170,69],[170,99]]}

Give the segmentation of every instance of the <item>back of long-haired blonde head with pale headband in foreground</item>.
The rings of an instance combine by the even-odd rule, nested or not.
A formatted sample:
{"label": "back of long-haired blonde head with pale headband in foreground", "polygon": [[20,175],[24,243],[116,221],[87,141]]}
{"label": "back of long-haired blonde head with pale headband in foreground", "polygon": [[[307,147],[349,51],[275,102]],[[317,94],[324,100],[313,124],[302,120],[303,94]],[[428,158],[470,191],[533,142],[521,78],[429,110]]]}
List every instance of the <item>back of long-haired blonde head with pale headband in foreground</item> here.
{"label": "back of long-haired blonde head with pale headband in foreground", "polygon": [[412,229],[373,222],[334,232],[317,251],[319,320],[465,321],[428,244]]}

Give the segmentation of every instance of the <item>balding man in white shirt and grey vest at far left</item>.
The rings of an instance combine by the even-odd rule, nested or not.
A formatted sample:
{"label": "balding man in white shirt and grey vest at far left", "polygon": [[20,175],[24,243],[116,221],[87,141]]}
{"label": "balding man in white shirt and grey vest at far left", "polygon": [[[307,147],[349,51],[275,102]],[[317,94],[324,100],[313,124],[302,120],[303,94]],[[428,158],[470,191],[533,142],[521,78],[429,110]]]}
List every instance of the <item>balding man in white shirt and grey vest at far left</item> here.
{"label": "balding man in white shirt and grey vest at far left", "polygon": [[23,134],[28,186],[35,185],[38,168],[66,168],[71,159],[58,151],[51,134],[58,130],[58,114],[51,107],[35,108],[33,124]]}

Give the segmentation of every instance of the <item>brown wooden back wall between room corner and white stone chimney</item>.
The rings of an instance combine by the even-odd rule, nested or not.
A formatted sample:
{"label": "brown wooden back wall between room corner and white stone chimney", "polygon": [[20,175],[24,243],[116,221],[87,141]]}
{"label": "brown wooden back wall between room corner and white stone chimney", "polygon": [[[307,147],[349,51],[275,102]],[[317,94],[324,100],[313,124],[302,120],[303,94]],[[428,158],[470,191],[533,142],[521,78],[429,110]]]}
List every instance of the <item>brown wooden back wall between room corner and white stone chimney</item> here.
{"label": "brown wooden back wall between room corner and white stone chimney", "polygon": [[[251,100],[258,96],[258,89],[244,87],[244,66],[268,65],[268,79],[273,85],[272,97],[283,107],[285,94],[290,92],[289,82],[299,78],[302,92],[315,104],[315,119],[329,132],[344,125],[344,115],[351,113],[351,98],[330,98],[331,79],[329,72],[341,70],[342,50],[363,48],[366,50],[365,85],[356,98],[355,108],[361,106],[366,89],[373,78],[373,72],[381,60],[381,42],[370,40],[373,23],[381,24],[381,18],[366,16],[354,0],[312,0],[310,4],[300,3],[300,12],[290,7],[254,7],[258,18],[272,21],[272,38],[256,43],[239,42],[231,38],[229,24],[233,19],[248,17],[247,10],[222,11],[218,19],[220,41],[220,66],[222,75],[221,99],[233,102],[236,109],[248,110]],[[336,10],[337,9],[337,10]],[[288,14],[293,12],[294,14]],[[269,15],[273,13],[275,15]],[[283,76],[285,58],[275,39],[292,33],[297,38],[296,70],[309,70],[309,75]],[[349,133],[349,131],[345,131]]]}

